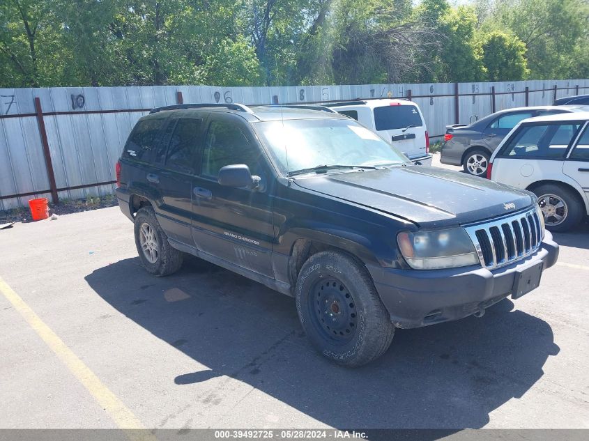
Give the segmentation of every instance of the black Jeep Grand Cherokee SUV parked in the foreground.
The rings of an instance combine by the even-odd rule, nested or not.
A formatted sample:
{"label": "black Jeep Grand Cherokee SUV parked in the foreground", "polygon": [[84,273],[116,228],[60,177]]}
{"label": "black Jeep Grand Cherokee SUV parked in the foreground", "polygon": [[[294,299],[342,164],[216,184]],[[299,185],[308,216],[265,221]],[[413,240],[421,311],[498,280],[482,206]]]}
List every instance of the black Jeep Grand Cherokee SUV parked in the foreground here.
{"label": "black Jeep Grand Cherokee SUV parked in the foreground", "polygon": [[558,257],[532,193],[413,165],[320,107],[153,109],[116,171],[148,272],[189,253],[296,297],[314,346],[346,366],[395,327],[528,293]]}

